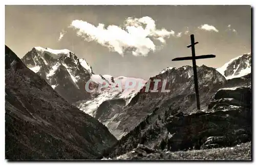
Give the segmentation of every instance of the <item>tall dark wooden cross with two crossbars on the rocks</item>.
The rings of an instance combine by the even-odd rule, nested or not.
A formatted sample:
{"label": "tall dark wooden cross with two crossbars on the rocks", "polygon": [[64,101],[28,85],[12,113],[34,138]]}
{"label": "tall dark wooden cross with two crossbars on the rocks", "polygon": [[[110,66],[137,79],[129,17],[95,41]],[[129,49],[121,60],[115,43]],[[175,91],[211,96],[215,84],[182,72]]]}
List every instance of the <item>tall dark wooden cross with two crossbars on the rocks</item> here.
{"label": "tall dark wooden cross with two crossbars on the rocks", "polygon": [[195,42],[194,34],[190,35],[191,39],[191,45],[188,45],[187,47],[191,47],[192,51],[192,57],[182,57],[182,58],[175,58],[172,61],[183,61],[183,60],[192,60],[193,63],[193,71],[194,71],[194,81],[195,81],[195,90],[196,90],[196,96],[197,96],[197,109],[200,110],[200,100],[199,100],[199,90],[198,90],[198,78],[197,78],[197,65],[196,60],[197,59],[208,59],[208,58],[215,58],[216,56],[213,54],[208,55],[202,55],[202,56],[196,56],[195,52],[195,45],[198,44],[198,42]]}

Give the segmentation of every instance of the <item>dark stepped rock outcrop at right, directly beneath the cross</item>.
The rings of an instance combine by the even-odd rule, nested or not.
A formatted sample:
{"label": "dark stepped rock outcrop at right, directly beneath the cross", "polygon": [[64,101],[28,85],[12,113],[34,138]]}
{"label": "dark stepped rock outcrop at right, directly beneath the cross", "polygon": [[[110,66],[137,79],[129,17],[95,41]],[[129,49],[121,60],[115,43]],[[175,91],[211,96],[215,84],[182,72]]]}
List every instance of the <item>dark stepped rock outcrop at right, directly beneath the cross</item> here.
{"label": "dark stepped rock outcrop at right, directly beneath the cross", "polygon": [[252,139],[251,90],[220,89],[209,112],[171,116],[166,127],[172,134],[171,151],[234,146]]}

